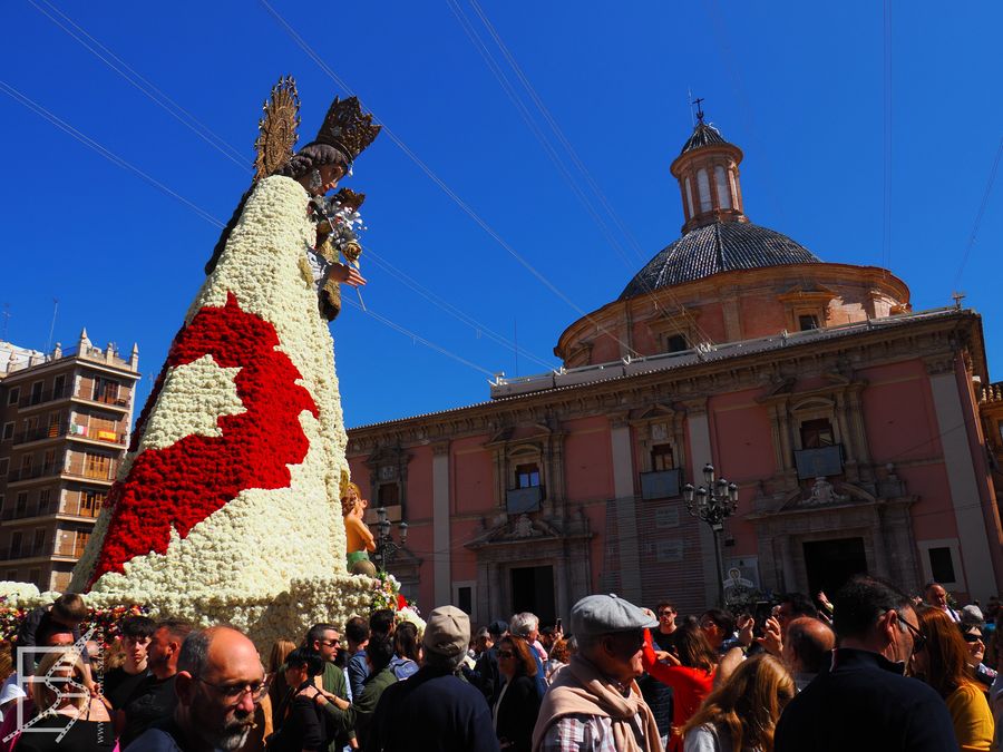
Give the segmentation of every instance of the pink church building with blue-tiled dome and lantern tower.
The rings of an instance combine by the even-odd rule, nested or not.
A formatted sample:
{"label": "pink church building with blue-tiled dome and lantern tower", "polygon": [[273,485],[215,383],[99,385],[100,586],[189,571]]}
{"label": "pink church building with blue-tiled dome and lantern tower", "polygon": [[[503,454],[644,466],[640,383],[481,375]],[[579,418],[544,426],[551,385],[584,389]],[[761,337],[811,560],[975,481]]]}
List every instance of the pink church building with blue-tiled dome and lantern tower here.
{"label": "pink church building with blue-tiled dome and lantern tower", "polygon": [[[408,523],[389,569],[423,608],[548,623],[615,592],[692,613],[719,566],[759,594],[865,570],[997,594],[1003,397],[981,318],[913,312],[889,272],[752,224],[741,158],[697,126],[672,164],[683,235],[565,330],[562,369],[349,431],[370,506]],[[708,462],[739,487],[719,547],[681,496]]]}

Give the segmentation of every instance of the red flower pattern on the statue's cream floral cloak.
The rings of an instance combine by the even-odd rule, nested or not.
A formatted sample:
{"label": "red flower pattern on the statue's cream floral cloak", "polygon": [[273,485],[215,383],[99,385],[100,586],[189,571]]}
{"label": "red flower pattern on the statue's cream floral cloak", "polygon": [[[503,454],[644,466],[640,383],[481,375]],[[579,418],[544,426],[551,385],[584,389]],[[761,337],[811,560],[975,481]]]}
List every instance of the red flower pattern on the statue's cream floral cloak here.
{"label": "red flower pattern on the statue's cream floral cloak", "polygon": [[[243,311],[232,292],[223,307],[201,309],[178,332],[165,372],[206,354],[222,368],[240,367],[236,391],[246,411],[220,417],[222,436],[186,436],[136,457],[109,494],[111,520],[90,585],[108,572],[123,573],[136,556],[165,553],[172,528],[187,537],[241,491],[289,486],[288,466],[302,462],[310,449],[300,413],[309,410],[317,417],[318,408],[310,392],[296,384],[301,374],[277,344],[274,325]],[[140,416],[143,426],[160,375]]]}

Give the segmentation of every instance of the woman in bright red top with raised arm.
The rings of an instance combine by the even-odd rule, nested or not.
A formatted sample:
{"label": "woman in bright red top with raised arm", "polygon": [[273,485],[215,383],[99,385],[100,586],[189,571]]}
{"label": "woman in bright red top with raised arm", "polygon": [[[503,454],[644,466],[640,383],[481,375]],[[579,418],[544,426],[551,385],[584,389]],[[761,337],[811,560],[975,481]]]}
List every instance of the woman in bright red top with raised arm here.
{"label": "woman in bright red top with raised arm", "polygon": [[684,624],[675,632],[679,657],[668,655],[669,663],[660,663],[651,642],[651,632],[644,631],[644,671],[672,687],[672,733],[669,752],[682,750],[681,730],[697,712],[714,684],[718,656],[697,624]]}

